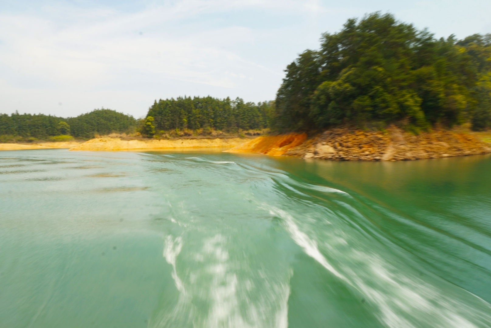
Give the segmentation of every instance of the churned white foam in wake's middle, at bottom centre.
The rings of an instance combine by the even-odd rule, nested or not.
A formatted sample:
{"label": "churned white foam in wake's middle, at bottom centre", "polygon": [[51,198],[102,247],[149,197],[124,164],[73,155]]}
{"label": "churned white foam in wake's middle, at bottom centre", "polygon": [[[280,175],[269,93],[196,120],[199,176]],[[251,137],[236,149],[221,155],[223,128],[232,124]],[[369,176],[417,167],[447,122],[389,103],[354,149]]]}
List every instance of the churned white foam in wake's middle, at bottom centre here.
{"label": "churned white foam in wake's middle, at bottom centre", "polygon": [[[247,267],[242,271],[242,262],[230,258],[228,242],[227,238],[217,234],[205,239],[200,251],[189,254],[190,259],[196,261],[196,266],[186,270],[183,281],[173,274],[176,286],[185,285],[178,287],[183,291],[179,301],[172,311],[159,312],[150,327],[288,327],[291,270],[281,271],[279,276],[265,275],[254,280],[257,279],[257,271],[250,271]],[[167,236],[165,239],[164,257],[173,267],[182,245],[180,237]],[[256,285],[258,283],[260,285]],[[209,306],[207,312],[194,307],[193,300],[206,301]]]}

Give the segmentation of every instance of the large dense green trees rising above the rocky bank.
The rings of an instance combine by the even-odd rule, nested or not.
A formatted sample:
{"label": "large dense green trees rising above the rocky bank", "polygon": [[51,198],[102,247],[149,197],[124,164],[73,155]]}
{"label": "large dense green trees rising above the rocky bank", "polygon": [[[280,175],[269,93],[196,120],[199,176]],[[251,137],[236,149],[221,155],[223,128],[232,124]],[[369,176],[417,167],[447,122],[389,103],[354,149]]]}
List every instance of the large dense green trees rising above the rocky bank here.
{"label": "large dense green trees rising above the rocky bank", "polygon": [[490,127],[491,35],[436,39],[373,13],[325,33],[285,70],[273,123],[279,131],[401,122]]}

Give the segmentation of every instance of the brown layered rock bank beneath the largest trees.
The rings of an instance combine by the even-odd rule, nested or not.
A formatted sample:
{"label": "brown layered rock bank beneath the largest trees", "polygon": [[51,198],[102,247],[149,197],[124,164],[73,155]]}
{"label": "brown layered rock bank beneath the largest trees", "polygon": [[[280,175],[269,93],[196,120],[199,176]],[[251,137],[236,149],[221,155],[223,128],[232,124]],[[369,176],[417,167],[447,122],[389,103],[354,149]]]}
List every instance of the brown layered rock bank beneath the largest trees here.
{"label": "brown layered rock bank beneath the largest trees", "polygon": [[385,133],[328,130],[285,155],[340,161],[400,161],[489,152],[488,144],[470,135],[437,130],[416,136],[392,127]]}

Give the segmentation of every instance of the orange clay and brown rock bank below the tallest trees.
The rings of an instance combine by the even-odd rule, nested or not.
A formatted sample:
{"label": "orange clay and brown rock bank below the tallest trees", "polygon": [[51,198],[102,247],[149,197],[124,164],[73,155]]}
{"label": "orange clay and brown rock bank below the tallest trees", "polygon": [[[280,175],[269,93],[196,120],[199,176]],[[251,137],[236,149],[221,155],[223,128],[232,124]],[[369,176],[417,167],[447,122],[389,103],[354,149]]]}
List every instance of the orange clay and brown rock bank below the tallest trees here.
{"label": "orange clay and brown rock bank below the tallest trees", "polygon": [[434,130],[413,135],[397,127],[369,132],[349,128],[305,134],[257,137],[227,152],[334,161],[409,161],[491,153],[491,143],[476,133]]}

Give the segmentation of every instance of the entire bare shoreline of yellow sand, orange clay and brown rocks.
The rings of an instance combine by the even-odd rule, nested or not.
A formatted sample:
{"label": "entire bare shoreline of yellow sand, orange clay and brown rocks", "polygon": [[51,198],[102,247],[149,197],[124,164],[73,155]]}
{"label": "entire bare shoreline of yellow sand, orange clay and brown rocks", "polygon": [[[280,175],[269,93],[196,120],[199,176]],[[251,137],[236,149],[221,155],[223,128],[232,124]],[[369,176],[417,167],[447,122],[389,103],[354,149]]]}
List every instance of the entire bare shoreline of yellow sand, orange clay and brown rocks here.
{"label": "entire bare shoreline of yellow sand, orange clay and brown rocks", "polygon": [[[85,142],[0,143],[1,150],[69,149],[71,151],[132,151],[221,148],[231,153],[295,156],[335,161],[406,161],[491,153],[487,134],[434,130],[413,135],[397,127],[384,131],[348,128],[314,136],[290,133],[255,138],[122,139],[98,137]],[[484,141],[486,140],[486,142]]]}

